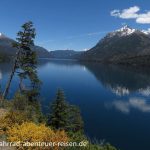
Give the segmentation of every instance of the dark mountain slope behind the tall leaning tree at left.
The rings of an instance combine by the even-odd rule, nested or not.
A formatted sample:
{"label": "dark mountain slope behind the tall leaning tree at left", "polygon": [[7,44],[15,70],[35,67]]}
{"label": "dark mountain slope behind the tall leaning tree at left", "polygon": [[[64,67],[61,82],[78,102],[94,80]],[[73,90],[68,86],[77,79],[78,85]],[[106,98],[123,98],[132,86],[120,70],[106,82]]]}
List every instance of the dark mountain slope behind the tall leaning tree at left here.
{"label": "dark mountain slope behind the tall leaning tree at left", "polygon": [[[0,33],[0,60],[6,57],[7,59],[11,59],[11,57],[15,56],[16,49],[12,47],[12,43],[14,42],[15,40]],[[32,49],[37,52],[37,56],[40,58],[50,57],[49,52],[43,47],[35,45]]]}

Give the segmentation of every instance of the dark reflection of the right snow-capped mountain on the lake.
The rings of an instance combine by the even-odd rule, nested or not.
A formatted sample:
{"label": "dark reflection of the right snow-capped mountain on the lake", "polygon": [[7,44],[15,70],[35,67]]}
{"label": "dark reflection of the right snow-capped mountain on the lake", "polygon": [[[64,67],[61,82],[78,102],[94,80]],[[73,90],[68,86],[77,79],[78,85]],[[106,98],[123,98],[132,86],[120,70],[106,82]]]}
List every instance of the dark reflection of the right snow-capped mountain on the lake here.
{"label": "dark reflection of the right snow-capped mountain on the lake", "polygon": [[86,63],[86,68],[102,85],[119,96],[139,92],[150,95],[150,69]]}

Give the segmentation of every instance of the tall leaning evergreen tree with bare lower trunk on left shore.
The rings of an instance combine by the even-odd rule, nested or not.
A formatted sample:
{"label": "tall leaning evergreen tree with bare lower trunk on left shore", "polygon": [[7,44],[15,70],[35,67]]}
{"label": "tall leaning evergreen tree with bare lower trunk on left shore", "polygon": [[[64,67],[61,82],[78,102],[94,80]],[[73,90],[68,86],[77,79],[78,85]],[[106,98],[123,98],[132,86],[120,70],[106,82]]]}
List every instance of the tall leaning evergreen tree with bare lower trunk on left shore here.
{"label": "tall leaning evergreen tree with bare lower trunk on left shore", "polygon": [[13,47],[17,49],[17,53],[8,83],[3,93],[3,98],[6,98],[8,95],[15,72],[18,73],[20,78],[20,91],[25,90],[23,79],[29,79],[31,81],[32,92],[37,94],[35,89],[38,89],[40,82],[36,72],[36,53],[32,50],[35,35],[35,28],[31,21],[23,24],[22,30],[17,33],[17,42],[13,43]]}

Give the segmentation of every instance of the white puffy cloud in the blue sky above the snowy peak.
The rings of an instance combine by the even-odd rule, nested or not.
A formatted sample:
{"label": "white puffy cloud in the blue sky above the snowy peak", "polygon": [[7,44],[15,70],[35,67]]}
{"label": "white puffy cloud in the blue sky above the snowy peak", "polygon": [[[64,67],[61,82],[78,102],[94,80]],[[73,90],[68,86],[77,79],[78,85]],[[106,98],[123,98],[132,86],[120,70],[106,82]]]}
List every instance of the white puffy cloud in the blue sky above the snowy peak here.
{"label": "white puffy cloud in the blue sky above the snowy peak", "polygon": [[135,19],[136,23],[150,24],[150,11],[139,13],[140,7],[133,6],[123,10],[112,10],[110,15],[122,19]]}

